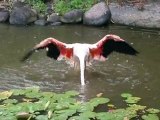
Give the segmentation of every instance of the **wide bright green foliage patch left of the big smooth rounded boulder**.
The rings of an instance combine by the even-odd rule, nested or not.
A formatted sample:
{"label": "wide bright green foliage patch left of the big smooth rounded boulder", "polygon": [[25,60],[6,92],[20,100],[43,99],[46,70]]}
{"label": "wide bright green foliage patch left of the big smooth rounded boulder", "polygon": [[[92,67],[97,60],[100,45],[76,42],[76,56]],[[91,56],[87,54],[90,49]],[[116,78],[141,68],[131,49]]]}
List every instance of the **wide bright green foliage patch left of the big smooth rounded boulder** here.
{"label": "wide bright green foliage patch left of the big smooth rounded boulder", "polygon": [[54,8],[57,13],[65,14],[73,9],[88,10],[97,0],[56,0]]}

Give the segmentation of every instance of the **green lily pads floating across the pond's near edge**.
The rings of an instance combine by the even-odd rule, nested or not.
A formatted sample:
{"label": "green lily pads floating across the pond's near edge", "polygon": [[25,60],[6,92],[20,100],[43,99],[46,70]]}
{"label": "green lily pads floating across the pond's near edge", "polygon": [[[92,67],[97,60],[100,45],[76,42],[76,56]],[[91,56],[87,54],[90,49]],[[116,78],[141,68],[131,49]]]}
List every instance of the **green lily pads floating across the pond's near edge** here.
{"label": "green lily pads floating across the pond's near edge", "polygon": [[[126,108],[116,108],[101,95],[87,102],[76,98],[79,93],[42,92],[38,87],[0,92],[0,119],[3,120],[159,120],[159,109],[138,105],[140,98],[121,94]],[[97,111],[98,106],[106,109]]]}

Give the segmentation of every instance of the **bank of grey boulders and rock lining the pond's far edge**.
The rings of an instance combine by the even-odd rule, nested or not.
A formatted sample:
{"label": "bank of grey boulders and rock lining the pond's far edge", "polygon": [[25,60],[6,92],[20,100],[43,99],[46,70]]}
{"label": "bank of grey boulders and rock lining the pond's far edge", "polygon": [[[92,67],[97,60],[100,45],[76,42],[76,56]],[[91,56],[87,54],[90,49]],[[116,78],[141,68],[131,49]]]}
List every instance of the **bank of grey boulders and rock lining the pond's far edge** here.
{"label": "bank of grey boulders and rock lining the pond's far edge", "polygon": [[14,25],[61,25],[77,24],[91,26],[105,26],[110,19],[115,24],[122,24],[143,28],[160,28],[160,1],[148,1],[143,4],[110,3],[106,2],[94,4],[88,11],[80,9],[71,10],[64,15],[59,15],[53,10],[49,10],[45,15],[37,12],[33,7],[23,2],[14,2],[12,8],[0,3],[0,22],[8,22]]}

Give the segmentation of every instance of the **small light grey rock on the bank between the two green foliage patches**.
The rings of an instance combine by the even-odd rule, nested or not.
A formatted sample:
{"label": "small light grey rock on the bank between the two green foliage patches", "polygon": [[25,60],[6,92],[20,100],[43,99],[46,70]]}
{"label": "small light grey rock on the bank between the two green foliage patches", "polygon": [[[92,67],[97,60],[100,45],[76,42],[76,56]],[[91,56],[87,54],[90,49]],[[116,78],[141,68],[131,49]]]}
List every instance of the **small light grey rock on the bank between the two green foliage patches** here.
{"label": "small light grey rock on the bank between the two green foliage patches", "polygon": [[49,15],[47,22],[49,23],[55,23],[55,22],[60,22],[60,17],[57,15],[57,13],[52,13]]}

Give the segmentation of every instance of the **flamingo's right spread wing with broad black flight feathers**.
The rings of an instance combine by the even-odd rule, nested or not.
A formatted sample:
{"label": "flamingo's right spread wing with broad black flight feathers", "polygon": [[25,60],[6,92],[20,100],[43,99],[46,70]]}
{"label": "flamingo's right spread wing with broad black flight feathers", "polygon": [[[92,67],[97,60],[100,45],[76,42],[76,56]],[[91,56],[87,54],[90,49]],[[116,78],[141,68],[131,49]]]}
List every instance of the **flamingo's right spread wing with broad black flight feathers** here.
{"label": "flamingo's right spread wing with broad black flight feathers", "polygon": [[138,52],[127,42],[116,35],[106,35],[90,48],[93,59],[103,60],[113,51],[128,55],[136,55]]}

